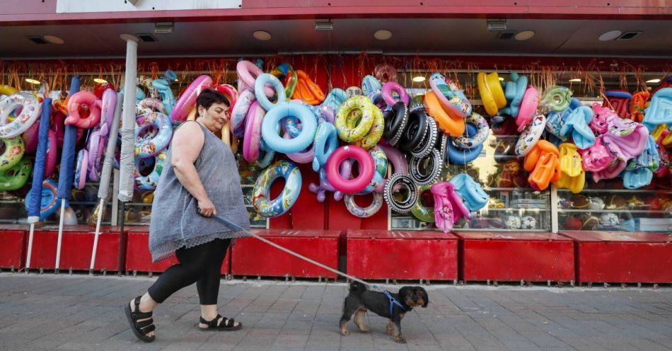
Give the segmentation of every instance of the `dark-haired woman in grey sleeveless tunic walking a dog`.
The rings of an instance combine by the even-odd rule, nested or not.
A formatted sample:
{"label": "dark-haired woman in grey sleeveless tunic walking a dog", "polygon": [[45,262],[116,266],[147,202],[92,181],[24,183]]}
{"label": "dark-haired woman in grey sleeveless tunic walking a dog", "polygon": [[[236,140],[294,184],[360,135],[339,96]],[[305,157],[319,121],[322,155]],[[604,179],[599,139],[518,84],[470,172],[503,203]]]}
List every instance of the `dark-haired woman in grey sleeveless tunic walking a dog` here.
{"label": "dark-haired woman in grey sleeveless tunic walking a dog", "polygon": [[236,159],[215,132],[228,121],[229,102],[206,90],[196,100],[197,118],[184,122],[173,135],[152,204],[149,249],[153,262],[176,257],[141,297],[124,309],[133,333],[146,343],[155,339],[152,311],[171,294],[196,283],[201,304],[199,328],[239,330],[242,324],[217,313],[221,264],[233,238],[212,214],[250,228]]}

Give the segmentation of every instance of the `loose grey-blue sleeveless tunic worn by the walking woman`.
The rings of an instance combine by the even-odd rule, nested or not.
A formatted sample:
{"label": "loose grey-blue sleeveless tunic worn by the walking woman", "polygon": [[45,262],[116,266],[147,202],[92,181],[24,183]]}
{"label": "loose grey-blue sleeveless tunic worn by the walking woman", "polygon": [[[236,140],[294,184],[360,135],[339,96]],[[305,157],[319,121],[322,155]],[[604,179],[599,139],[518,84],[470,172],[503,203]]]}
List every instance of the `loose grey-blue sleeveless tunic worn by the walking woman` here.
{"label": "loose grey-blue sleeveless tunic worn by the walking woman", "polygon": [[[249,229],[250,219],[231,148],[200,123],[185,123],[197,123],[203,131],[203,149],[194,166],[217,214]],[[151,207],[149,251],[153,262],[173,257],[178,248],[191,248],[216,238],[247,236],[243,231],[231,231],[197,213],[197,200],[183,187],[170,166],[171,154],[168,150]]]}

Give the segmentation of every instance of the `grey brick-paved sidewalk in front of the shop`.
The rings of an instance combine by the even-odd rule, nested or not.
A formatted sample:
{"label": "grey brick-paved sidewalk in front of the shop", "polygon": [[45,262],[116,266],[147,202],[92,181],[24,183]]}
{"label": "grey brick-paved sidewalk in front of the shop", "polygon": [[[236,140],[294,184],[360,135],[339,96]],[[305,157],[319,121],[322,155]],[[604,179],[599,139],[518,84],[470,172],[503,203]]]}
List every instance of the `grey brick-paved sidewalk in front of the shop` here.
{"label": "grey brick-paved sidewalk in front of the shop", "polygon": [[202,332],[195,287],[158,306],[145,344],[122,305],[147,277],[0,273],[0,350],[671,350],[672,289],[431,285],[429,307],[402,321],[406,345],[372,333],[342,338],[345,284],[222,281],[221,312],[245,324]]}

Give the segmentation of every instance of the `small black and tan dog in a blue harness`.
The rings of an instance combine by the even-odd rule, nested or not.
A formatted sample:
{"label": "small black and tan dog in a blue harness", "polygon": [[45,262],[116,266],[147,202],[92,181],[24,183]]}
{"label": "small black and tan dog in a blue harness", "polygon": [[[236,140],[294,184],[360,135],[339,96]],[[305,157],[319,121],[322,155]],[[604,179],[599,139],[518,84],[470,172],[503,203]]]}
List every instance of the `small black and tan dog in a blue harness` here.
{"label": "small black and tan dog in a blue harness", "polygon": [[[366,311],[371,310],[378,316],[390,318],[390,322],[385,329],[387,335],[397,343],[406,343],[404,335],[401,334],[401,319],[405,313],[410,312],[413,307],[427,307],[429,297],[422,287],[402,287],[397,294],[390,293],[398,304],[390,301],[386,294],[382,292],[372,292],[364,284],[353,282],[350,284],[349,294],[345,297],[343,304],[343,315],[340,320],[341,335],[347,336],[347,323],[354,315],[354,323],[359,330],[364,333],[369,332],[369,328],[364,326],[364,317]],[[390,309],[390,304],[392,305]],[[390,313],[392,311],[392,313]]]}

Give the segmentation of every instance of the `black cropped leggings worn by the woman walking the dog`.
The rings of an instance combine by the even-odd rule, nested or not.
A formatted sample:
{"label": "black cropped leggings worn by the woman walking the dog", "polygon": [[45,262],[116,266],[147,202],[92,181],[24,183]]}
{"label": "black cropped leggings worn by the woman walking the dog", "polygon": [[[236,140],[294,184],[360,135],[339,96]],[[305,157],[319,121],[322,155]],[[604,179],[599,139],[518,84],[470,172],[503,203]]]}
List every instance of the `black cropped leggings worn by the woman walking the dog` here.
{"label": "black cropped leggings worn by the woman walking the dog", "polygon": [[202,305],[217,304],[221,263],[231,239],[214,239],[192,248],[175,251],[178,263],[163,272],[147,292],[159,304],[183,287],[196,282],[198,298]]}

